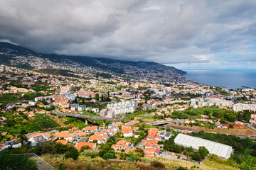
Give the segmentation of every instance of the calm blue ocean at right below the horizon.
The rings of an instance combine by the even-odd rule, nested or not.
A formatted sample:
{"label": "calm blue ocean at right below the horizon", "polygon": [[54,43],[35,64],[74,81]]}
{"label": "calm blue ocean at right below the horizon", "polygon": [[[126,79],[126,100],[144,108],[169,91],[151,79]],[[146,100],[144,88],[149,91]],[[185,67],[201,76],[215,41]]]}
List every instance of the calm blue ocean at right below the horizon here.
{"label": "calm blue ocean at right below the horizon", "polygon": [[186,79],[212,86],[238,89],[241,86],[256,88],[256,69],[250,70],[186,70]]}

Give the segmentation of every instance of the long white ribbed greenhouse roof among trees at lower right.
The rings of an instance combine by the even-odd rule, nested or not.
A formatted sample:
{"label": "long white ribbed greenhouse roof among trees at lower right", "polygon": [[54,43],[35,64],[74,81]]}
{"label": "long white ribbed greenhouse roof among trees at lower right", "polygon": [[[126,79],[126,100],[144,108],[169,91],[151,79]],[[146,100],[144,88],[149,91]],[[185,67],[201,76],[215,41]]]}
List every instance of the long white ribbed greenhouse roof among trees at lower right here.
{"label": "long white ribbed greenhouse roof among trees at lower right", "polygon": [[210,154],[215,154],[218,157],[228,159],[233,154],[233,149],[231,146],[223,145],[218,142],[213,142],[210,140],[204,140],[199,137],[192,137],[189,135],[184,135],[179,133],[174,142],[176,145],[182,145],[183,147],[192,147],[193,149],[199,149],[199,147],[206,147]]}

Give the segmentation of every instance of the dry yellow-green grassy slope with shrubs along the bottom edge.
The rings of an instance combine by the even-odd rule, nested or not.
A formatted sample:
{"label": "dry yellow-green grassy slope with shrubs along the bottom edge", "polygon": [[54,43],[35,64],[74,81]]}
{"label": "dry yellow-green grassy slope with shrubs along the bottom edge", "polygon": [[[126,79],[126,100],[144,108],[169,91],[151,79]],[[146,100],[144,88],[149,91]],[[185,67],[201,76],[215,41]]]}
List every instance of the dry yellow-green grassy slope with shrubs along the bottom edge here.
{"label": "dry yellow-green grassy slope with shrubs along the bottom edge", "polygon": [[186,162],[180,159],[165,159],[162,157],[143,157],[140,162],[122,162],[115,160],[105,160],[100,157],[91,158],[87,156],[88,152],[93,150],[85,150],[82,152],[77,160],[63,159],[63,154],[44,154],[42,158],[50,163],[56,169],[92,169],[92,170],[156,170],[156,169],[170,169],[170,170],[235,170],[236,168],[226,164],[225,162],[218,162],[217,160],[206,160],[203,164],[195,162]]}

